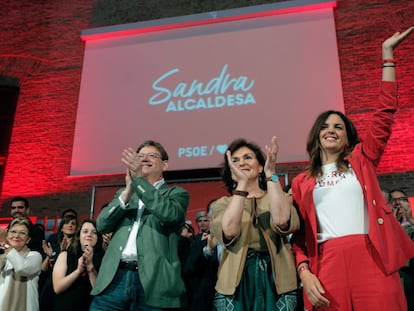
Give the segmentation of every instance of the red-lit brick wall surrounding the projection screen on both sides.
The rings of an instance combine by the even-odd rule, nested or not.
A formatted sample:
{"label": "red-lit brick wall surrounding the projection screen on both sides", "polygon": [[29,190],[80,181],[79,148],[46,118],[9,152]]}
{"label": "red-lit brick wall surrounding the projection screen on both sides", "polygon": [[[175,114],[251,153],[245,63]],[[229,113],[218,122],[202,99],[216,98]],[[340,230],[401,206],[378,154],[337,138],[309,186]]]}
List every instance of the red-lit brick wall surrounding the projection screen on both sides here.
{"label": "red-lit brick wall surrounding the projection screen on both sides", "polygon": [[[68,177],[84,48],[81,30],[274,2],[280,1],[1,0],[0,81],[17,80],[20,93],[9,153],[3,160],[0,216],[8,214],[8,208],[4,207],[8,207],[8,199],[15,195],[29,197],[32,212],[38,216],[55,216],[66,207],[87,214],[93,185],[123,182],[121,175]],[[381,42],[393,32],[410,26],[408,23],[414,21],[414,3],[339,0],[334,12],[345,110],[363,134],[375,109]],[[413,50],[412,36],[395,53],[400,110],[378,169],[384,187],[401,186],[411,196],[414,195]],[[282,164],[278,169],[287,172],[291,179],[304,165]],[[170,177],[203,174],[206,172],[181,172],[171,173]]]}

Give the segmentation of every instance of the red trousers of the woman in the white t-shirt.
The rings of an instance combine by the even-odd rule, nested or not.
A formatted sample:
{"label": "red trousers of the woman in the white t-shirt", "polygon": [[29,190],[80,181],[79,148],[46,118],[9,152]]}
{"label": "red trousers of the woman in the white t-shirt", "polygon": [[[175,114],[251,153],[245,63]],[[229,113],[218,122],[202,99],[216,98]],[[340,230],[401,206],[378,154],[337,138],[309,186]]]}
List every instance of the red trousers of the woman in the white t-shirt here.
{"label": "red trousers of the woman in the white t-shirt", "polygon": [[330,305],[315,310],[406,311],[398,272],[385,275],[374,251],[368,236],[362,234],[322,243],[318,278]]}

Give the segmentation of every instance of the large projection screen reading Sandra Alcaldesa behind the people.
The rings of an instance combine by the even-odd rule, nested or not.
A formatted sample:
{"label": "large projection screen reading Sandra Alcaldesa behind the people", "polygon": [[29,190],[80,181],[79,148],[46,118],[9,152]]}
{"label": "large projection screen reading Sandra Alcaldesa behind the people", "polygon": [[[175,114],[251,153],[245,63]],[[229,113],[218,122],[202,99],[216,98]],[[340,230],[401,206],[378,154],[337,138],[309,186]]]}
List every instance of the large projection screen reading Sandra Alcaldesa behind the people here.
{"label": "large projection screen reading Sandra Alcaldesa behind the people", "polygon": [[343,111],[336,1],[285,1],[84,30],[72,176],[125,171],[122,150],[161,142],[169,170],[215,168],[243,137],[306,161],[322,111]]}

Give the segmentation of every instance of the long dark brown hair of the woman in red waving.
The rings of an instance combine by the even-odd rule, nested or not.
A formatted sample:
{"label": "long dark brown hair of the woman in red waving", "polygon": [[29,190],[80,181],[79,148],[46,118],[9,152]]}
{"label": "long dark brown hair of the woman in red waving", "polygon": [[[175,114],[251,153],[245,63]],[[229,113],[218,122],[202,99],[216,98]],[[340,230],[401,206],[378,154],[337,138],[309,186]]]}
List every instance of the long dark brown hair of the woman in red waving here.
{"label": "long dark brown hair of the woman in red waving", "polygon": [[321,113],[313,123],[313,126],[308,135],[308,140],[306,142],[306,150],[309,154],[309,176],[312,177],[319,177],[322,175],[322,149],[319,141],[319,133],[331,114],[336,114],[342,119],[345,124],[346,136],[348,138],[348,145],[345,146],[344,150],[341,152],[338,160],[336,161],[336,165],[339,171],[346,172],[348,170],[348,163],[345,158],[351,154],[355,145],[359,143],[358,133],[354,124],[342,112],[336,110],[328,110]]}

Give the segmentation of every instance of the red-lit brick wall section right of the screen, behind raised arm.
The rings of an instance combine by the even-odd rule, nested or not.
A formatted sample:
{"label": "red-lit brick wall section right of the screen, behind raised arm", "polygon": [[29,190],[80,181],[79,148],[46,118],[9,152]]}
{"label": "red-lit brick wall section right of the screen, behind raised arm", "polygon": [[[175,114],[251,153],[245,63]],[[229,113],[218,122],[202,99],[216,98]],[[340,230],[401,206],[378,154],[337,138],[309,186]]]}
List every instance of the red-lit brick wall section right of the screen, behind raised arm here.
{"label": "red-lit brick wall section right of the screen, behind raised arm", "polygon": [[[381,75],[380,45],[394,32],[412,26],[414,3],[338,1],[335,11],[345,111],[363,136],[375,109]],[[399,110],[393,134],[378,167],[381,186],[402,187],[414,196],[414,38],[394,56],[399,81]]]}

